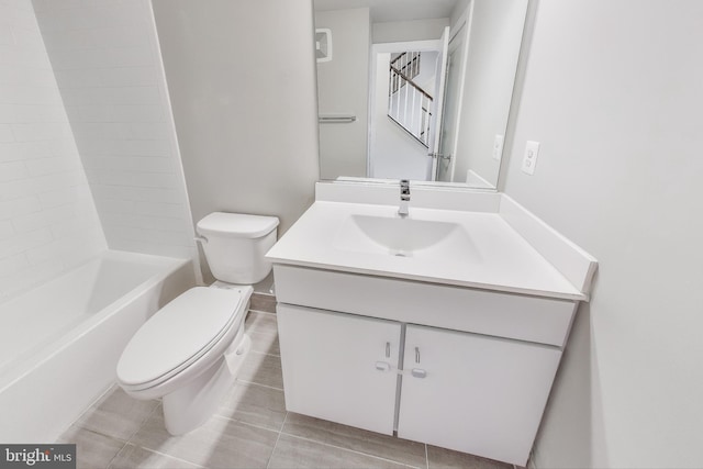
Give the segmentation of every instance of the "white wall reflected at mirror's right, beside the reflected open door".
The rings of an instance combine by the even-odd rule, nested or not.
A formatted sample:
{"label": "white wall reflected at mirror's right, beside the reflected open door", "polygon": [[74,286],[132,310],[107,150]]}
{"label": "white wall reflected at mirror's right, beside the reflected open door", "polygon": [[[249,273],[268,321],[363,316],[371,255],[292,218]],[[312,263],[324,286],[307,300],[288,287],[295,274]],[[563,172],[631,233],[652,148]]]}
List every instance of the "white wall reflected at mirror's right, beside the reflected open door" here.
{"label": "white wall reflected at mirror's right, beside the reflected open door", "polygon": [[455,182],[469,169],[498,180],[493,143],[505,135],[526,9],[526,0],[473,0]]}

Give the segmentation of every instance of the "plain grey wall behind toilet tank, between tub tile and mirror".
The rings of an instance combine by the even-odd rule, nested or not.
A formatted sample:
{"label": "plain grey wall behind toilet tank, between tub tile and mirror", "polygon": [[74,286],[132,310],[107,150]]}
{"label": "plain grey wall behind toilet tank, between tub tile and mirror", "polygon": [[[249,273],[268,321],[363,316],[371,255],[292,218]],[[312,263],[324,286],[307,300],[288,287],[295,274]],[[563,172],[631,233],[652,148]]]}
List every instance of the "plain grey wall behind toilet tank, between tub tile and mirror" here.
{"label": "plain grey wall behind toilet tank, between tub tile and mirror", "polygon": [[192,215],[313,202],[317,99],[311,0],[155,0]]}

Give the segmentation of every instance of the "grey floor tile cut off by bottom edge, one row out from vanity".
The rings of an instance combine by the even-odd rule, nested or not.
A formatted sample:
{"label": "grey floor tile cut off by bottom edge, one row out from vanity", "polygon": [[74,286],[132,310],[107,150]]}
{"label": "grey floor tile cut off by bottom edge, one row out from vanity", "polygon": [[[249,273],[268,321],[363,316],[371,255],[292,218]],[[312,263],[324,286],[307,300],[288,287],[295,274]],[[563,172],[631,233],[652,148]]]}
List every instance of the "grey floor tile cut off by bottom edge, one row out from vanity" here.
{"label": "grey floor tile cut off by bottom edge, one row out from vanity", "polygon": [[375,458],[347,449],[335,448],[317,442],[281,434],[271,460],[270,469],[297,468],[403,468],[406,466]]}

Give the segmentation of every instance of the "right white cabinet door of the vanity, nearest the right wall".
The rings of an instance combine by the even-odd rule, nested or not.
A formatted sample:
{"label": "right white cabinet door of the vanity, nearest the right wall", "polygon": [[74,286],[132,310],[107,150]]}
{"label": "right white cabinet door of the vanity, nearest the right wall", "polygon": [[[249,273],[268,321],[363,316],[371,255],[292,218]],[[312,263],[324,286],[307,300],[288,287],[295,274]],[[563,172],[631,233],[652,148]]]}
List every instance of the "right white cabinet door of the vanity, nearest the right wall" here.
{"label": "right white cabinet door of the vanity, nearest the right wall", "polygon": [[398,436],[525,466],[560,355],[409,325]]}

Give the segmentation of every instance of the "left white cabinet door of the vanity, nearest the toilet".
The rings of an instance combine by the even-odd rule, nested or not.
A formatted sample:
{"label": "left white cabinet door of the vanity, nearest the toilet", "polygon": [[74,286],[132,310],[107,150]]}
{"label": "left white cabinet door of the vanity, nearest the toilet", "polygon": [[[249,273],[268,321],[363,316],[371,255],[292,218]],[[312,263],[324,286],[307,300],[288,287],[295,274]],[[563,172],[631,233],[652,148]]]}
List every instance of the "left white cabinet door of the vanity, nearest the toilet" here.
{"label": "left white cabinet door of the vanity, nearest the toilet", "polygon": [[279,303],[286,407],[393,433],[400,324]]}

